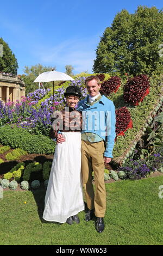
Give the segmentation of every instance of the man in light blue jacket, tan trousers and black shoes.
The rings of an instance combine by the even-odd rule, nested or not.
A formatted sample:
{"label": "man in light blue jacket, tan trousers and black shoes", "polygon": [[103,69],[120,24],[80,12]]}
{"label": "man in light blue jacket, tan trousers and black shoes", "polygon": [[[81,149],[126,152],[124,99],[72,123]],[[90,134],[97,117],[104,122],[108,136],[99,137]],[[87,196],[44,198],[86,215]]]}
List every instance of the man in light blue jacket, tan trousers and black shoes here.
{"label": "man in light blue jacket, tan trousers and black shoes", "polygon": [[[85,221],[97,217],[96,230],[104,230],[106,210],[106,192],[104,183],[104,162],[109,163],[114,148],[115,106],[114,103],[99,93],[101,82],[97,76],[85,80],[89,95],[79,102],[78,111],[82,111],[82,176],[87,208]],[[58,135],[57,142],[64,142]],[[95,193],[92,185],[92,172],[95,174]]]}

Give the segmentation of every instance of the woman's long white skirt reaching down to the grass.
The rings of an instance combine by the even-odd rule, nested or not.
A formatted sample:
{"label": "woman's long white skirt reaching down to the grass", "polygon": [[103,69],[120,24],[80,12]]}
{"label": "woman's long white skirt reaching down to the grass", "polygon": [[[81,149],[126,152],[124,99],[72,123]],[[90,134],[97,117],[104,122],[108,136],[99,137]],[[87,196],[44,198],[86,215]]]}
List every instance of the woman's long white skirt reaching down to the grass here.
{"label": "woman's long white skirt reaching down to the grass", "polygon": [[64,223],[84,210],[81,176],[81,133],[62,132],[65,142],[55,148],[45,196],[43,219]]}

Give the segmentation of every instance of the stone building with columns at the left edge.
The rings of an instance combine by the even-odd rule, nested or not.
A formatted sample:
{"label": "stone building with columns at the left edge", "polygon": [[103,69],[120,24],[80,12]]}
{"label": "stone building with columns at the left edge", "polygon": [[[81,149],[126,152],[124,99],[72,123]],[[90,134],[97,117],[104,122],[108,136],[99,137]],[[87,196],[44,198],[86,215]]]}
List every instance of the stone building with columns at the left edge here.
{"label": "stone building with columns at the left edge", "polygon": [[0,73],[0,101],[21,101],[25,91],[25,84],[19,76]]}

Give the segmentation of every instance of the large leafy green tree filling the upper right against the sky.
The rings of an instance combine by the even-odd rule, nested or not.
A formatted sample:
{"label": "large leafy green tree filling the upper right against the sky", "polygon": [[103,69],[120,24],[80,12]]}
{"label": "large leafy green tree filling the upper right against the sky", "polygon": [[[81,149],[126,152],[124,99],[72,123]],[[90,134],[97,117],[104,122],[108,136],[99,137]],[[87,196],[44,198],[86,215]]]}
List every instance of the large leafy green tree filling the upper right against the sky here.
{"label": "large leafy green tree filling the upper right against the sky", "polygon": [[105,29],[97,46],[94,72],[147,74],[162,68],[163,11],[139,6],[134,14],[122,10]]}

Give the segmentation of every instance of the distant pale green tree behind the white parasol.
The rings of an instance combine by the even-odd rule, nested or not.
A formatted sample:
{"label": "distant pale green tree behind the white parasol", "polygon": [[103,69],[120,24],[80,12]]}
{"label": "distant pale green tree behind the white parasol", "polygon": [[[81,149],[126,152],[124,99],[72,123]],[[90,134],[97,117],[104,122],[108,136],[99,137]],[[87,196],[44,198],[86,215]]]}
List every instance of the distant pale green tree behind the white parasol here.
{"label": "distant pale green tree behind the white parasol", "polygon": [[[52,69],[56,70],[56,67],[52,68],[52,66],[42,66],[41,64],[36,64],[34,66],[25,66],[24,73],[26,75],[22,75],[24,83],[26,84],[26,94],[34,92],[34,90],[38,89],[38,83],[34,83],[33,81],[39,74],[51,71]],[[43,83],[44,88],[49,88],[52,86],[52,83]]]}

